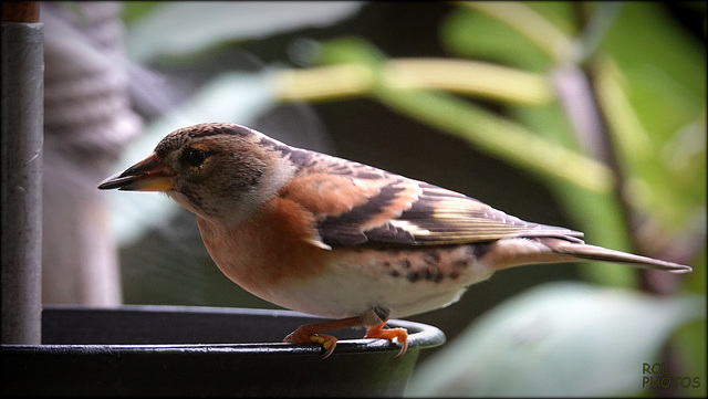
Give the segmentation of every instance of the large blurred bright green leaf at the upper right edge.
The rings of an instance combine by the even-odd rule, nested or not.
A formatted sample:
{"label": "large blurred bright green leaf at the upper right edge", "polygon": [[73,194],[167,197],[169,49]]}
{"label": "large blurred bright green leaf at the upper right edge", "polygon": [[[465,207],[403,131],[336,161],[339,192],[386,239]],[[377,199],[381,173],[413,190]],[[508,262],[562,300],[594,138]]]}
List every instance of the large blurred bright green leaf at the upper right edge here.
{"label": "large blurred bright green leaf at the upper right edge", "polygon": [[[601,103],[633,206],[686,229],[706,203],[705,45],[659,4],[629,2],[602,42]],[[608,61],[612,60],[612,61]]]}

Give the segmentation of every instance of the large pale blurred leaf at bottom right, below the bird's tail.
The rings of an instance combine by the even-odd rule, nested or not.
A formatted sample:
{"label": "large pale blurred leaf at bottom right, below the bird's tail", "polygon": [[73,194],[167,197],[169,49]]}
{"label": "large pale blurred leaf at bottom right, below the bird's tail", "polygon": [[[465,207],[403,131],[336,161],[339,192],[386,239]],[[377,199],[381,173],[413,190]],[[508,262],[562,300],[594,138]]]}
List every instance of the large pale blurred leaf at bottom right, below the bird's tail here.
{"label": "large pale blurred leaf at bottom right, below the bird's tail", "polygon": [[[642,387],[643,365],[660,363],[660,348],[671,332],[689,321],[705,324],[705,296],[655,297],[581,283],[542,285],[483,315],[421,364],[406,395],[648,393],[649,388]],[[694,377],[694,370],[683,371]]]}

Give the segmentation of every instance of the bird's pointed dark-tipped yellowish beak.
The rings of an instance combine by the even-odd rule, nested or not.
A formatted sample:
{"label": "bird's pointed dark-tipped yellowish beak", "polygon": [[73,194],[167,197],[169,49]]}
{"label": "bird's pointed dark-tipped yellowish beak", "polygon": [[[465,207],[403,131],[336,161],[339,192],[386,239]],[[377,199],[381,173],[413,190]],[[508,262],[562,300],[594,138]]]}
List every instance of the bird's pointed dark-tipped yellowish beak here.
{"label": "bird's pointed dark-tipped yellowish beak", "polygon": [[127,168],[121,175],[113,175],[100,186],[101,190],[168,191],[174,188],[173,175],[165,170],[155,154]]}

